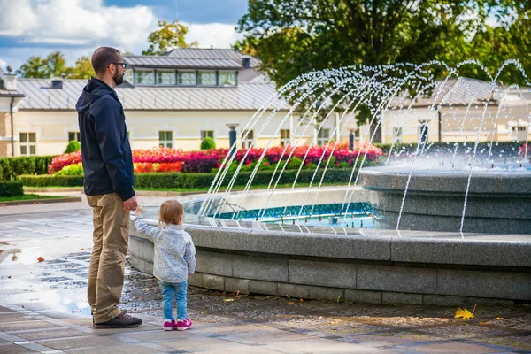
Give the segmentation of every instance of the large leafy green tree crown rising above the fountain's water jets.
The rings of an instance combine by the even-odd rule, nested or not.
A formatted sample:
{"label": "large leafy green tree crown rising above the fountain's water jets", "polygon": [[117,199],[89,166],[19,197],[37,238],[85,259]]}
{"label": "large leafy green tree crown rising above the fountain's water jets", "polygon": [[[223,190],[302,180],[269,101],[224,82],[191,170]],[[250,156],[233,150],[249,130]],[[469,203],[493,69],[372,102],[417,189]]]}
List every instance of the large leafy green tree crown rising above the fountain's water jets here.
{"label": "large leafy green tree crown rising above the fountain's water jets", "polygon": [[[277,87],[312,70],[348,65],[435,59],[456,65],[473,52],[470,39],[489,14],[528,8],[524,0],[251,0],[238,27],[245,38],[236,45],[258,53],[260,69]],[[373,112],[360,111],[363,124]]]}

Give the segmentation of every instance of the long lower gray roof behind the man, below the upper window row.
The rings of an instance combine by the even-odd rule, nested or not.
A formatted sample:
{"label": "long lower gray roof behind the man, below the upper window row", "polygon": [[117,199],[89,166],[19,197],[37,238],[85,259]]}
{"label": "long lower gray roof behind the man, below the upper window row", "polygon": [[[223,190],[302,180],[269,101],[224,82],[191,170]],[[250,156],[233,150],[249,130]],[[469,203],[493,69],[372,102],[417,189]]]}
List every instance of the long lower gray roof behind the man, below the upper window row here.
{"label": "long lower gray roof behind the man, below the upper window row", "polygon": [[[19,79],[26,97],[20,110],[73,110],[86,80],[63,81],[50,89],[50,79]],[[235,88],[135,87],[117,88],[126,110],[249,110],[256,111],[276,92],[272,83],[241,82]],[[271,105],[278,106],[280,101]]]}

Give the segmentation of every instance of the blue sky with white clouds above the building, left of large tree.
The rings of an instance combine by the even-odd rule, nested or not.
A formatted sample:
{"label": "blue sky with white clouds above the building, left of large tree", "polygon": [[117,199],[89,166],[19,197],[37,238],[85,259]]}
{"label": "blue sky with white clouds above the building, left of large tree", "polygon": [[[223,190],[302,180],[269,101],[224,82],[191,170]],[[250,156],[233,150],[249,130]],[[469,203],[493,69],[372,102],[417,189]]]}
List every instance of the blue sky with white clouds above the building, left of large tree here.
{"label": "blue sky with white clouds above the building, left of large tree", "polygon": [[140,55],[159,20],[189,26],[187,42],[230,48],[247,0],[0,0],[0,68],[60,50],[66,64],[99,46]]}

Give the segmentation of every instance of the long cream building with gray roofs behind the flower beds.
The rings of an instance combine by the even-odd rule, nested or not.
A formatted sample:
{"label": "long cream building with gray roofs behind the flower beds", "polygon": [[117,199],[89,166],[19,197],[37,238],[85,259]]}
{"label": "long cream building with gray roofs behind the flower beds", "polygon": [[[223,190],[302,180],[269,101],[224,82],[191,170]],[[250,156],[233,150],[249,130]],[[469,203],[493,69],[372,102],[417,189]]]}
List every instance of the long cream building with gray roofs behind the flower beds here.
{"label": "long cream building with gray roofs behind the flower beds", "polygon": [[[334,134],[338,114],[331,115],[319,133],[313,125],[305,131],[304,125],[297,127],[299,117],[287,117],[288,105],[279,98],[268,101],[276,88],[266,75],[258,73],[258,58],[236,50],[177,49],[164,56],[127,56],[124,61],[126,81],[116,91],[124,106],[133,149],[163,145],[198,150],[205,136],[212,137],[217,147],[228,147],[227,124],[237,124],[239,136],[244,133],[239,141],[243,147],[252,142],[258,147],[293,144],[299,135],[303,137],[298,145],[323,144],[330,138],[347,141],[349,128],[357,127],[351,119],[348,127],[342,125]],[[68,141],[79,140],[75,104],[86,83],[0,73],[0,157],[57,155]],[[489,90],[485,82],[469,79],[450,81],[447,89],[454,95],[447,100],[457,104],[450,107],[441,99],[436,101],[442,104],[438,111],[430,109],[430,97],[419,99],[409,111],[411,101],[397,98],[394,104],[400,101],[403,109],[389,107],[383,113],[381,141],[418,142],[424,125],[429,142],[475,140],[483,107],[478,102],[468,107],[467,93],[473,90],[489,99],[481,140],[490,140],[493,135],[499,141],[525,141],[529,137],[529,97],[512,89],[500,101],[500,97],[485,92]],[[263,104],[269,111],[249,131],[242,132]],[[481,105],[479,109],[476,104]],[[274,109],[279,112],[262,129]],[[465,116],[470,119],[463,119]],[[360,127],[357,134],[366,141],[371,136],[368,126]]]}

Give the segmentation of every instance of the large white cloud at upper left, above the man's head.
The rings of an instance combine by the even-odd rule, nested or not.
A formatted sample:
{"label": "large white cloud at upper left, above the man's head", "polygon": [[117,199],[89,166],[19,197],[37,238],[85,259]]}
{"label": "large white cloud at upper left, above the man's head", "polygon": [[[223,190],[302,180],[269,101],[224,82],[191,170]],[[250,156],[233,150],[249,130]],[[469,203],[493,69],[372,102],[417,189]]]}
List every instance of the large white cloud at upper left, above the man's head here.
{"label": "large white cloud at upper left, above the man's head", "polygon": [[0,8],[0,35],[31,43],[142,50],[157,27],[150,7],[105,6],[102,0],[0,0]]}

